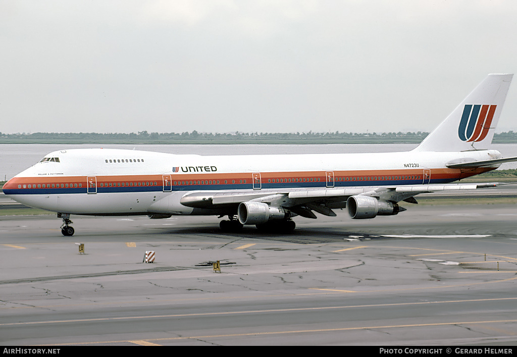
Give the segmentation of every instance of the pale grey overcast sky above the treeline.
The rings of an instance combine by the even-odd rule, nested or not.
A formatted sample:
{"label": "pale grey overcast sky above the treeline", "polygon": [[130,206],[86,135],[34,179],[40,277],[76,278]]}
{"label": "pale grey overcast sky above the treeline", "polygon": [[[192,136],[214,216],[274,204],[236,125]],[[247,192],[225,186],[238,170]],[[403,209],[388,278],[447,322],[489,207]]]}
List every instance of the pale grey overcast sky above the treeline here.
{"label": "pale grey overcast sky above the treeline", "polygon": [[516,71],[515,0],[0,0],[4,133],[431,131]]}

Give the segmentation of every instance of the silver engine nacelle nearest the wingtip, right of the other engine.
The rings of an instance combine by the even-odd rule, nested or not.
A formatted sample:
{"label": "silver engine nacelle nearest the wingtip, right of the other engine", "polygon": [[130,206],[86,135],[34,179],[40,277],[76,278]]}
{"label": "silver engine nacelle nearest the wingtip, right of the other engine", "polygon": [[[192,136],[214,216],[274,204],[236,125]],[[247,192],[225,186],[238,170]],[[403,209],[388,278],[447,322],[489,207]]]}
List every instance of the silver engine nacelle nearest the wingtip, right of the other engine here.
{"label": "silver engine nacelle nearest the wingtip, right of the other engine", "polygon": [[379,201],[370,196],[351,196],[346,200],[348,214],[354,219],[373,218],[375,216],[396,215],[401,209],[397,203]]}

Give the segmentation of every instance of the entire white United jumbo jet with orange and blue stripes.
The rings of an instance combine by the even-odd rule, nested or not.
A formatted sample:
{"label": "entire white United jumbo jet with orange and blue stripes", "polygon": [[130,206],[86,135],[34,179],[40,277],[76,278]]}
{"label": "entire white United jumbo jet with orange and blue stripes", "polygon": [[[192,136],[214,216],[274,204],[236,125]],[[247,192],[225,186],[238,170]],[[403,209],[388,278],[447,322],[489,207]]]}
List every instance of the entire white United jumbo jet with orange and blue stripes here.
{"label": "entire white United jumbo jet with orange and blue stripes", "polygon": [[10,179],[4,194],[63,219],[70,215],[169,218],[228,216],[223,231],[244,225],[289,233],[293,217],[353,219],[397,215],[399,202],[425,192],[469,190],[498,183],[452,184],[501,163],[489,150],[513,75],[488,75],[414,150],[399,153],[176,155],[135,150],[55,151]]}

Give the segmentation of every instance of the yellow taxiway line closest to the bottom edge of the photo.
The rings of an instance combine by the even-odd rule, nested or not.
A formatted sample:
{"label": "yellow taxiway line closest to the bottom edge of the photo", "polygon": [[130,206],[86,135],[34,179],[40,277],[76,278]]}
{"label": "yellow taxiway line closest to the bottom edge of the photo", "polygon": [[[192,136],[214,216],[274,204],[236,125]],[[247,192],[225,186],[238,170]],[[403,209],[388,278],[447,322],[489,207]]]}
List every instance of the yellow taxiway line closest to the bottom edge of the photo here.
{"label": "yellow taxiway line closest to the bottom edge of the photo", "polygon": [[[146,341],[173,341],[181,339],[207,339],[207,338],[228,338],[228,337],[244,337],[244,336],[271,336],[271,335],[285,335],[293,333],[315,333],[315,332],[338,332],[338,331],[354,331],[354,330],[373,330],[373,329],[400,329],[400,328],[416,328],[424,326],[450,326],[450,325],[472,325],[485,323],[509,323],[517,322],[517,320],[488,320],[488,321],[451,321],[451,322],[437,322],[437,323],[415,323],[404,325],[373,325],[373,326],[355,326],[335,329],[312,329],[312,330],[291,330],[291,331],[269,331],[269,332],[248,332],[235,333],[224,335],[203,335],[203,336],[180,336],[180,337],[165,337],[165,338],[149,338]],[[128,340],[118,341],[95,341],[85,343],[59,344],[59,346],[80,346],[92,344],[120,344],[131,342]],[[57,346],[57,345],[39,345],[39,346]]]}

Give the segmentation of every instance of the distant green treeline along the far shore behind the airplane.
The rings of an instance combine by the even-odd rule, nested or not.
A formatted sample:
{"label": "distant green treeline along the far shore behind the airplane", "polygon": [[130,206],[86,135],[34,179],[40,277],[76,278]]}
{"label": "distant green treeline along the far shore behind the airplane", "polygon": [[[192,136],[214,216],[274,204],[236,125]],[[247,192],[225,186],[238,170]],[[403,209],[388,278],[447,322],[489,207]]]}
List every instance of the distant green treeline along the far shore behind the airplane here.
{"label": "distant green treeline along the far shore behind the airplane", "polygon": [[[428,132],[147,132],[96,133],[96,132],[35,132],[6,134],[0,132],[0,143],[419,143]],[[496,133],[494,142],[515,143],[517,132]]]}

